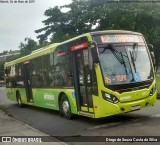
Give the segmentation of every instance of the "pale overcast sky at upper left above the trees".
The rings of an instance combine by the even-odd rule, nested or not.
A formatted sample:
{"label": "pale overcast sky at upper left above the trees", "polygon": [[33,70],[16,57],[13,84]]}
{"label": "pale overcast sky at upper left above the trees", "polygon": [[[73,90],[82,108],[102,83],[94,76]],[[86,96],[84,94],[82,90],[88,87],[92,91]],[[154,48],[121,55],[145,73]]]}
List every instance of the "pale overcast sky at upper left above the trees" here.
{"label": "pale overcast sky at upper left above the trees", "polygon": [[71,2],[72,0],[0,0],[0,53],[19,50],[20,42],[24,42],[25,37],[38,41],[38,34],[34,31],[44,27],[42,21],[47,18],[44,16],[45,10]]}

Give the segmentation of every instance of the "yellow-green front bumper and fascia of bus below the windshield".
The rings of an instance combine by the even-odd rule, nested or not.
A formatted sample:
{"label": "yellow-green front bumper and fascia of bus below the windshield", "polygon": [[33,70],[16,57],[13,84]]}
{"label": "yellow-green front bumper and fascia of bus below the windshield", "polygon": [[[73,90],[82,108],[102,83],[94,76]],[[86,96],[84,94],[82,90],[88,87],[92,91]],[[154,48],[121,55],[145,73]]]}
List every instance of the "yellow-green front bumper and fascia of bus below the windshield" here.
{"label": "yellow-green front bumper and fascia of bus below the windshield", "polygon": [[[95,118],[134,111],[134,108],[132,108],[134,106],[140,106],[139,109],[141,109],[155,104],[157,92],[155,92],[154,95],[149,96],[152,87],[155,85],[155,80],[148,89],[141,89],[119,94],[118,92],[111,91],[104,86],[99,65],[97,65],[95,68],[99,87],[98,97],[93,96]],[[113,104],[105,101],[101,95],[101,91],[113,94],[120,100],[120,102]]]}

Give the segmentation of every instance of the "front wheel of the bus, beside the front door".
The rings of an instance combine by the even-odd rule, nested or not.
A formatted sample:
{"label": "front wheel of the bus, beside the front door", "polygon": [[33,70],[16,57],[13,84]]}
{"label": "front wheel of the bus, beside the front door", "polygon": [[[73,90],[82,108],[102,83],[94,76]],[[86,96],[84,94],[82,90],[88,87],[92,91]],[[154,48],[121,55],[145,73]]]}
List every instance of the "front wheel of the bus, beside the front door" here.
{"label": "front wheel of the bus, beside the front door", "polygon": [[67,119],[72,118],[71,106],[70,106],[69,100],[66,95],[62,95],[61,97],[60,114]]}

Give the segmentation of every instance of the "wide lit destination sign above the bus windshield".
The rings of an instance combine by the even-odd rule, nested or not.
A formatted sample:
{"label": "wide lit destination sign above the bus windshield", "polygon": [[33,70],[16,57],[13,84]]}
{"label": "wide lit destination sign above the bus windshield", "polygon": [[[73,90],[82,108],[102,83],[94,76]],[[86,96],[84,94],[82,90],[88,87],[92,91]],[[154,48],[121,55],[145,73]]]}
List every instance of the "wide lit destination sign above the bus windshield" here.
{"label": "wide lit destination sign above the bus windshield", "polygon": [[126,34],[101,35],[100,39],[102,43],[144,42],[142,36],[140,35],[126,35]]}

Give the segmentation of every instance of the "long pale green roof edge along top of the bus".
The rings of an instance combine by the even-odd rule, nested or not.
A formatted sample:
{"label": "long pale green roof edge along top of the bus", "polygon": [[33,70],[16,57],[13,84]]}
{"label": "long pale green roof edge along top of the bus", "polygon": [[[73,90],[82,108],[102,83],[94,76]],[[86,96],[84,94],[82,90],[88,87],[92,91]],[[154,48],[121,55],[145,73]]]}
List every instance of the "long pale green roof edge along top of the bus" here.
{"label": "long pale green roof edge along top of the bus", "polygon": [[101,34],[106,34],[106,33],[107,34],[120,33],[120,34],[142,35],[141,33],[138,33],[138,32],[125,31],[125,30],[106,30],[106,31],[89,32],[89,33],[85,33],[85,34],[79,35],[77,37],[74,37],[72,39],[66,40],[66,41],[61,42],[61,43],[53,43],[53,44],[50,44],[48,46],[42,47],[40,49],[37,49],[37,50],[33,51],[29,55],[26,55],[24,57],[18,58],[16,60],[11,61],[11,62],[6,62],[4,66],[8,67],[8,66],[11,66],[11,65],[15,65],[17,63],[28,61],[28,60],[30,60],[32,58],[36,58],[36,57],[44,55],[44,54],[48,54],[50,52],[53,52],[57,46],[60,46],[62,44],[74,41],[74,40],[79,39],[79,38],[84,37],[84,36],[88,36],[88,37],[90,36],[91,37],[91,36],[94,36],[94,35],[101,35]]}

